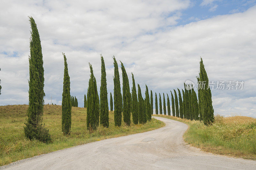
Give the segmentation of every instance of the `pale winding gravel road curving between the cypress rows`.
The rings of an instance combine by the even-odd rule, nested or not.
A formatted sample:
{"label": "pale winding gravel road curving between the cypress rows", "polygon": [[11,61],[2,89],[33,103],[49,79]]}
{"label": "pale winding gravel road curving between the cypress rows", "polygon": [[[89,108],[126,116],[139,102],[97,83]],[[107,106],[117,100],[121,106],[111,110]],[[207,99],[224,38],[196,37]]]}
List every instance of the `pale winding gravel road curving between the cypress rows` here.
{"label": "pale winding gravel road curving between the cypress rows", "polygon": [[182,139],[186,124],[154,118],[166,126],[23,159],[0,169],[256,169],[255,160],[189,147]]}

